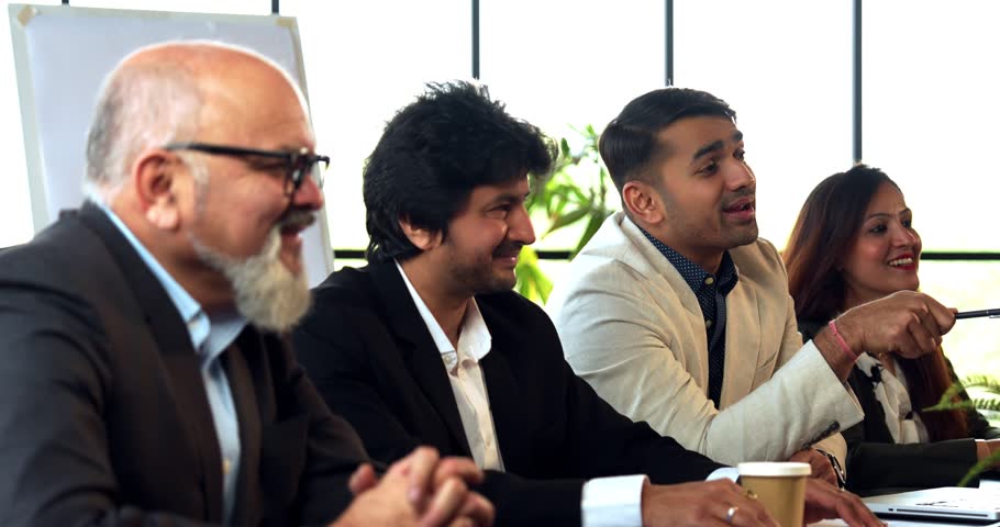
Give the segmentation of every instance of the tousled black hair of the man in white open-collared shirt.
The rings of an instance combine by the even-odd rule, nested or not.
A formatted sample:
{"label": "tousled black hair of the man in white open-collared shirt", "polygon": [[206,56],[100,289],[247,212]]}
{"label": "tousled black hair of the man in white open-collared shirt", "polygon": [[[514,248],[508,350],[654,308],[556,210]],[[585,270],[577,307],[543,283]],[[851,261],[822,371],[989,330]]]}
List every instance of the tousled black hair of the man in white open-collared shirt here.
{"label": "tousled black hair of the man in white open-collared shirt", "polygon": [[473,189],[530,175],[544,179],[555,144],[537,127],[509,115],[485,87],[430,83],[386,125],[364,169],[369,261],[420,254],[399,225],[447,237],[448,222]]}

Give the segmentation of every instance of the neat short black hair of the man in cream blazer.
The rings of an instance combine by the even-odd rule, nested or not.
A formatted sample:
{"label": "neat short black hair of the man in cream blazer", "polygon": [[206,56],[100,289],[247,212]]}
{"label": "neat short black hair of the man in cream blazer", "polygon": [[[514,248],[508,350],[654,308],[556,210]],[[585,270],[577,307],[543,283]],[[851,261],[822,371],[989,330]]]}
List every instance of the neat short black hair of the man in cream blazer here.
{"label": "neat short black hair of the man in cream blazer", "polygon": [[662,88],[632,100],[601,134],[601,159],[619,192],[643,179],[657,153],[657,134],[685,117],[719,116],[736,121],[722,99],[690,88]]}

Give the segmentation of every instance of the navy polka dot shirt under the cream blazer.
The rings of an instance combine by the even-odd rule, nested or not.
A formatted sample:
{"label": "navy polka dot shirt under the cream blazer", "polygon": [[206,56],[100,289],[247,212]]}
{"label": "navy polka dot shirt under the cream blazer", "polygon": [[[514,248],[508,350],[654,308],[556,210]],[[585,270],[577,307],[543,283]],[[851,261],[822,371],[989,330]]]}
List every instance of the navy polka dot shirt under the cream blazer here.
{"label": "navy polka dot shirt under the cream blazer", "polygon": [[722,264],[714,276],[702,269],[693,261],[685,258],[680,253],[671,249],[663,242],[654,238],[649,233],[640,227],[646,239],[667,258],[684,278],[701,305],[704,318],[705,340],[709,343],[709,399],[719,407],[722,395],[722,373],[725,368],[725,296],[736,287],[740,277],[736,276],[736,266],[730,251],[722,255]]}

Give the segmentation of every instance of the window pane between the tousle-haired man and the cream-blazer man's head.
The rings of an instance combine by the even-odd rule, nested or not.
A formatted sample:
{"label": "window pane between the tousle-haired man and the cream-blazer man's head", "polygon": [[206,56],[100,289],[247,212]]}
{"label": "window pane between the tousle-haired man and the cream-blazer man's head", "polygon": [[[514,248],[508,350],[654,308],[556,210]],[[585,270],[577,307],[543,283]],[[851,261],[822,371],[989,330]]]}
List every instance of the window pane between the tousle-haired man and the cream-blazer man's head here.
{"label": "window pane between the tousle-haired man and the cream-blazer man's head", "polygon": [[[630,100],[664,86],[662,0],[482,0],[480,14],[480,77],[490,94],[574,150],[584,144],[575,130],[601,131]],[[588,170],[577,173],[596,175]],[[618,206],[613,186],[608,200]],[[547,226],[535,220],[536,229]],[[537,232],[535,247],[575,247],[582,229]]]}

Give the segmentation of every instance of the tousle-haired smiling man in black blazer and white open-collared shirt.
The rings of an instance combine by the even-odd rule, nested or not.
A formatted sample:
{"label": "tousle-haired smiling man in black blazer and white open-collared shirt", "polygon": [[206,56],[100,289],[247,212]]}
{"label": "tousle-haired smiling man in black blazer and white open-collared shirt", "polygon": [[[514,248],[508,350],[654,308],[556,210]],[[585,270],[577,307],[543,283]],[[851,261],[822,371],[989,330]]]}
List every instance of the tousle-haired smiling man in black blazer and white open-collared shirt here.
{"label": "tousle-haired smiling man in black blazer and white open-collared shirt", "polygon": [[[731,481],[702,481],[719,464],[598,397],[510,290],[534,242],[529,175],[553,155],[467,83],[400,111],[364,173],[369,266],[314,290],[299,360],[374,458],[420,444],[471,456],[501,525],[771,525]],[[879,525],[833,486],[810,502],[814,517]]]}

